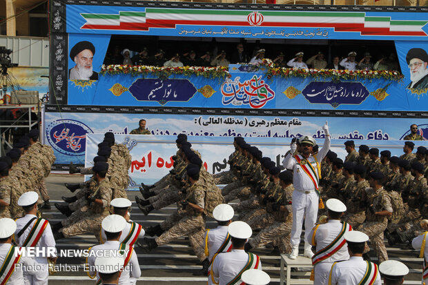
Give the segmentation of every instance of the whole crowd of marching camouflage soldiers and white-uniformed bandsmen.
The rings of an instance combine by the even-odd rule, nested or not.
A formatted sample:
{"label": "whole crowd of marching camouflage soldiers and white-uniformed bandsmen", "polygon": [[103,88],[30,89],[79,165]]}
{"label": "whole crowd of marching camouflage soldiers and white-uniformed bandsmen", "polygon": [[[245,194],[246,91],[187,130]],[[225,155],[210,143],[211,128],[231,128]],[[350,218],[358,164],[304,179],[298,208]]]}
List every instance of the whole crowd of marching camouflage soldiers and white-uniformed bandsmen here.
{"label": "whole crowd of marching camouflage soldiers and white-uniformed bandsmen", "polygon": [[[136,132],[144,133],[142,123]],[[99,245],[90,253],[117,253],[88,257],[88,275],[97,284],[135,284],[141,271],[134,246],[148,253],[178,237],[188,237],[202,263],[195,274],[207,275],[208,284],[268,284],[260,257],[251,251],[269,244],[276,254],[296,259],[303,225],[303,256],[312,259],[314,284],[381,284],[379,272],[384,284],[402,284],[409,268],[388,260],[384,235],[389,246],[411,244],[420,250],[425,259],[421,282],[427,282],[427,149],[418,146],[415,152],[414,142],[405,141],[403,155],[391,157],[389,150],[365,145],[356,150],[354,141],[346,141],[348,155],[342,160],[330,150],[327,123],[323,130],[322,147],[308,135],[293,139],[282,168],[235,137],[230,169],[216,175],[206,171],[186,135],[178,135],[173,169],[151,186],[142,184],[142,198],[135,197],[144,215],[174,203],[177,210],[147,228],[130,218],[126,187],[131,157],[112,132],[99,143],[93,167],[70,167],[70,173],[93,176],[66,184],[74,195],[55,204],[66,217],[56,224],[39,217],[46,205],[40,184],[53,157],[50,148],[37,142],[38,133],[30,132],[22,155],[19,144],[0,160],[0,282],[47,284],[56,250],[43,257],[21,256],[17,250],[55,248],[58,239],[93,233]],[[39,176],[31,176],[32,171]],[[26,179],[32,184],[15,183]],[[220,184],[226,186],[220,189]],[[228,204],[232,201],[237,203]],[[217,228],[206,228],[208,217]],[[377,262],[367,254],[367,242]]]}

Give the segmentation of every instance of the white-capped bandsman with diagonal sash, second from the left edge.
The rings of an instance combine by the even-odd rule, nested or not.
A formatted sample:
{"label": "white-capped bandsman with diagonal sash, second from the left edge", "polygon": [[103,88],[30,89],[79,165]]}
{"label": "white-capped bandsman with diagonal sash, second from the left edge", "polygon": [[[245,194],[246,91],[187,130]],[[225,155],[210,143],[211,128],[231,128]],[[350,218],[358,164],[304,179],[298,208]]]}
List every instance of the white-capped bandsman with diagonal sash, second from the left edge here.
{"label": "white-capped bandsman with diagonal sash, second from the left edge", "polygon": [[36,250],[39,248],[44,253],[32,258],[40,270],[23,271],[25,284],[32,285],[48,284],[48,258],[54,262],[57,259],[57,249],[50,224],[46,219],[38,219],[36,216],[38,199],[39,195],[34,191],[28,191],[19,197],[18,205],[23,208],[26,215],[17,219],[15,230],[15,241],[19,246],[35,247]]}

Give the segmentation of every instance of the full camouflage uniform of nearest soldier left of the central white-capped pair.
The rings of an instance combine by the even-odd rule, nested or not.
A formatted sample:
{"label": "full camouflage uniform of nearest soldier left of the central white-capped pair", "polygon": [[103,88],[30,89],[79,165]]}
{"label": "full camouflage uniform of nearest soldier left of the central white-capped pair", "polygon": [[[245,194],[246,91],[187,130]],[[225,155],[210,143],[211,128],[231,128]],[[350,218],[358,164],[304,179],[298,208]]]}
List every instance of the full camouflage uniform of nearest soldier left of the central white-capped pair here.
{"label": "full camouflage uniform of nearest soldier left of the central white-capped pair", "polygon": [[[206,188],[197,181],[186,192],[186,200],[189,202],[205,208],[205,195]],[[189,242],[200,261],[206,259],[204,253],[204,233],[205,233],[205,220],[202,213],[197,213],[190,206],[186,206],[186,210],[177,210],[173,214],[173,220],[175,223],[169,223],[171,228],[168,228],[162,235],[155,239],[158,246],[168,244],[168,242],[188,235]],[[161,225],[161,228],[166,229],[166,225]]]}

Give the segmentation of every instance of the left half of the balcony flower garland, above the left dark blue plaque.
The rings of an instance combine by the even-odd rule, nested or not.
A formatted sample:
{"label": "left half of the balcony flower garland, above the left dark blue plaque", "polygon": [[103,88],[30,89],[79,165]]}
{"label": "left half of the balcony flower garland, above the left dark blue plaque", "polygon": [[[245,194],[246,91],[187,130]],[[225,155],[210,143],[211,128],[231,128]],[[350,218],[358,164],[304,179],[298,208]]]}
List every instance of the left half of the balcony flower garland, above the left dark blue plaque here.
{"label": "left half of the balcony flower garland, above the left dark blue plaque", "polygon": [[155,74],[158,77],[169,77],[170,75],[197,75],[206,78],[224,79],[230,77],[228,68],[225,66],[204,67],[204,66],[183,66],[183,67],[157,67],[157,66],[123,66],[123,65],[103,65],[101,66],[101,75],[148,75]]}

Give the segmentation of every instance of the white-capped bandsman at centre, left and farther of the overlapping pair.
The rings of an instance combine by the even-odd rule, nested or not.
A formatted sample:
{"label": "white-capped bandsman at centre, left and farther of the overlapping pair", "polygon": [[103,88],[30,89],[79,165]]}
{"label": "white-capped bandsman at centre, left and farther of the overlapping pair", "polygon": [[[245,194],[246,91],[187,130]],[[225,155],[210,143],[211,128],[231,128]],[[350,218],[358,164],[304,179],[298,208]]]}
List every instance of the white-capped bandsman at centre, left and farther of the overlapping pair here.
{"label": "white-capped bandsman at centre, left and farther of the overlapping pair", "polygon": [[[235,211],[228,204],[217,205],[213,210],[213,217],[217,221],[217,228],[205,231],[205,255],[208,254],[208,284],[214,284],[211,279],[211,272],[208,272],[209,265],[213,263],[218,253],[227,253],[232,249],[231,237],[228,234],[228,225],[231,224]],[[206,263],[204,260],[204,263]],[[205,264],[204,269],[205,269]],[[218,282],[218,280],[216,280]]]}

